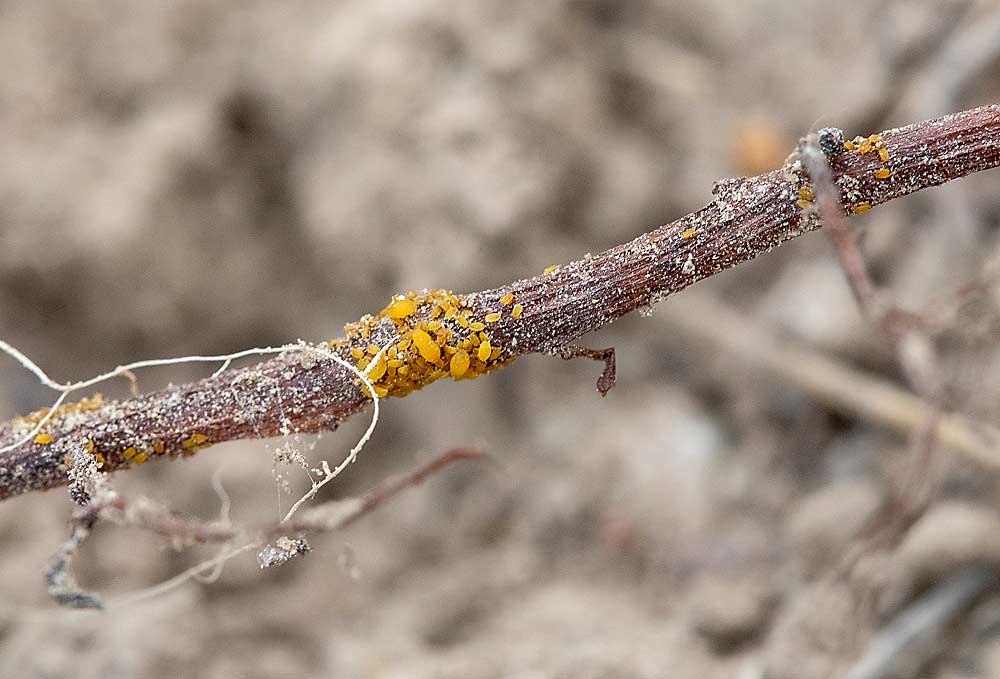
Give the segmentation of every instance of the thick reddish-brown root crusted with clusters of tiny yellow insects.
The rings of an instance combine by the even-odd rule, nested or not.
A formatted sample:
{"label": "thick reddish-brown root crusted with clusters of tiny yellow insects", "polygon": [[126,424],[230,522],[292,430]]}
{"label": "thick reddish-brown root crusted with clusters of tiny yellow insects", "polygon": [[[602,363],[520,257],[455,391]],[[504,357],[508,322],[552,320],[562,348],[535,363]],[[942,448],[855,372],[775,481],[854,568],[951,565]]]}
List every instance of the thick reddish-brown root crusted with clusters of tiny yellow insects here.
{"label": "thick reddish-brown root crusted with clusters of tiny yellow insects", "polygon": [[[861,212],[996,167],[1000,106],[889,130],[880,139],[886,160],[881,149],[825,149],[841,210]],[[886,168],[889,176],[879,172]],[[399,363],[379,364],[372,381],[380,395],[402,396],[440,377],[474,377],[524,354],[556,353],[624,314],[820,225],[810,179],[798,161],[720,181],[714,194],[698,212],[534,278],[468,295],[437,291],[394,299],[378,316],[348,326],[347,338],[331,346],[362,367],[372,362],[369,354],[391,345],[397,353],[388,360]],[[124,401],[63,406],[23,443],[42,415],[0,427],[0,449],[10,448],[0,454],[0,499],[65,485],[80,451],[114,471],[221,441],[334,429],[370,402],[351,370],[314,352],[290,350]]]}

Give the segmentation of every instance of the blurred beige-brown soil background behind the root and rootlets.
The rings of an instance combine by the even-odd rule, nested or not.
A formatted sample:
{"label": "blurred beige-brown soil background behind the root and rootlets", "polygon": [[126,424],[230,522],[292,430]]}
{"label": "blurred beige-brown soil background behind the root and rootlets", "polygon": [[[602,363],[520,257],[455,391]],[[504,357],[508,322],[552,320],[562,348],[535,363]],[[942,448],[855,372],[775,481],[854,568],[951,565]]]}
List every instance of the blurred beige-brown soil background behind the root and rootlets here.
{"label": "blurred beige-brown soil background behind the root and rootlets", "polygon": [[[393,292],[490,288],[630,239],[822,125],[852,137],[996,102],[1000,7],[7,1],[0,68],[0,335],[75,380],[336,337]],[[855,220],[875,278],[919,309],[976,277],[998,254],[997,181]],[[986,423],[998,300],[939,338],[953,403]],[[765,346],[695,329],[716,313]],[[910,456],[898,431],[752,358],[794,346],[904,384],[821,234],[586,342],[618,350],[607,399],[596,364],[535,356],[387,401],[326,499],[456,446],[498,464],[450,467],[280,568],[245,555],[211,584],[62,612],[41,574],[67,494],[3,503],[0,676],[843,676],[965,566],[1000,566],[997,468],[943,448],[931,506],[868,564],[868,618],[857,578],[837,577]],[[0,360],[2,417],[51,400]],[[366,424],[297,445],[339,459]],[[274,521],[295,497],[272,479],[280,443],[114,481],[213,518],[218,470],[235,521]],[[114,595],[213,553],[105,525],[76,572]],[[955,611],[856,676],[1000,676],[1000,590]]]}

